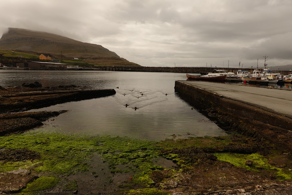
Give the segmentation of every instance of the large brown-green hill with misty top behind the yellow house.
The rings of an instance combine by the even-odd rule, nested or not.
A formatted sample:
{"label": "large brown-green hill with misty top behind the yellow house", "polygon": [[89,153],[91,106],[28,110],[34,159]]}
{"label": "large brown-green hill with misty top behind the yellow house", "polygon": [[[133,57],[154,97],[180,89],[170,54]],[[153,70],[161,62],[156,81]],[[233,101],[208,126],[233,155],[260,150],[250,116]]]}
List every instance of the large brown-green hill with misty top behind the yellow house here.
{"label": "large brown-green hill with misty top behind the yellow house", "polygon": [[[39,60],[39,56],[44,54],[65,63],[136,66],[136,63],[119,57],[101,45],[83,43],[57,34],[21,28],[8,28],[8,32],[2,35],[0,53],[4,54],[4,56],[0,56],[1,61],[7,64],[15,64],[23,59]],[[18,56],[22,56],[22,58]],[[79,58],[79,60],[75,61],[73,58]]]}

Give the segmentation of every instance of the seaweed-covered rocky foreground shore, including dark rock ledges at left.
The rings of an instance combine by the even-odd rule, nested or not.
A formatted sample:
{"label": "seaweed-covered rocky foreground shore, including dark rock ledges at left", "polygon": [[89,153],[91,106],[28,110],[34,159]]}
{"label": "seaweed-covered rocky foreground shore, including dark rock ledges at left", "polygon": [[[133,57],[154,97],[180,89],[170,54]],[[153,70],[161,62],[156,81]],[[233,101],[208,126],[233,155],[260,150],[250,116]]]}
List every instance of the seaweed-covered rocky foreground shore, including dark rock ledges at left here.
{"label": "seaweed-covered rocky foreground shore, including dark rock ledges at left", "polygon": [[[0,124],[4,131],[15,129],[10,135],[0,136],[0,182],[5,184],[0,187],[2,193],[258,195],[292,190],[291,154],[257,136],[156,142],[119,136],[22,134],[67,111],[7,112],[57,104],[64,98],[71,101],[107,96],[115,91],[62,86],[8,87],[0,88],[0,93]],[[220,112],[208,112],[220,119]],[[234,131],[230,120],[227,127]]]}

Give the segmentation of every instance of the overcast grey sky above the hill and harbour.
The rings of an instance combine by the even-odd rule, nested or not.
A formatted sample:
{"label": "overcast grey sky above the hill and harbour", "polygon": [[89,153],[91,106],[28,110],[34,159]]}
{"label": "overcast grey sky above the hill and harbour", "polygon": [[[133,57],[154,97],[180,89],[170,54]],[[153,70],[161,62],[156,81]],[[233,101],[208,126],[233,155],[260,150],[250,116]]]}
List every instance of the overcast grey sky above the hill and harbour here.
{"label": "overcast grey sky above the hill and harbour", "polygon": [[[8,27],[99,44],[142,66],[292,63],[291,0],[1,0]],[[174,64],[175,63],[175,64]]]}

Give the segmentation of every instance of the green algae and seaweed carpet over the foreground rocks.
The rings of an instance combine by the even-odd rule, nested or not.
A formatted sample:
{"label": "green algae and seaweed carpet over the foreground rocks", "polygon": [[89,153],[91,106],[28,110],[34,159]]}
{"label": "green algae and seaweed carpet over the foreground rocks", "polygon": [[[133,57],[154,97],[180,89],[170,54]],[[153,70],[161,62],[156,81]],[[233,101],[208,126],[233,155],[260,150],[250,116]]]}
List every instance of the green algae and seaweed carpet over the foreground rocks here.
{"label": "green algae and seaweed carpet over the foreground rocks", "polygon": [[[269,179],[261,175],[263,169],[265,174],[276,175],[277,179],[274,181],[291,179],[288,172],[291,160],[285,162],[288,164],[287,168],[271,165],[266,157],[271,153],[270,147],[268,143],[239,136],[197,137],[176,141],[167,139],[154,142],[119,136],[86,137],[76,134],[27,132],[0,137],[0,148],[12,151],[28,150],[39,154],[40,158],[19,158],[18,161],[4,162],[0,166],[0,172],[7,173],[19,168],[29,169],[32,170],[32,174],[42,178],[39,182],[45,180],[44,178],[52,180],[48,182],[51,184],[47,189],[54,184],[55,188],[61,191],[75,190],[79,188],[79,181],[68,181],[62,176],[89,171],[90,162],[95,155],[98,155],[102,159],[100,161],[105,163],[102,166],[112,174],[106,175],[107,186],[114,187],[113,183],[117,175],[127,176],[120,185],[114,187],[117,190],[112,190],[112,194],[151,194],[151,192],[167,194],[169,191],[159,189],[185,191],[182,185],[196,186],[190,188],[193,191],[205,185],[223,189],[232,185],[232,182],[248,185],[248,180],[251,178],[254,184],[261,184],[262,181]],[[172,160],[176,166],[165,169],[160,165],[154,165],[153,159],[161,157]],[[252,167],[244,164],[247,159],[254,161]],[[103,168],[96,167],[90,171],[92,178],[100,177],[96,172],[98,169]],[[61,179],[57,180],[57,178]],[[56,185],[57,181],[58,185]],[[30,192],[32,192],[30,185],[22,191],[22,193]]]}

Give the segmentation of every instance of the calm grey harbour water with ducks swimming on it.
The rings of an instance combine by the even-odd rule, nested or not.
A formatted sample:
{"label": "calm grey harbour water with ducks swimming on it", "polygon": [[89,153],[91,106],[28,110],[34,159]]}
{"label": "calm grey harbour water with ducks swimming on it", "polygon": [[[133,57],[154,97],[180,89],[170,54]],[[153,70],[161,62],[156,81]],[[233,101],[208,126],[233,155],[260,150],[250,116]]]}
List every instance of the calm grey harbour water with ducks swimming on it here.
{"label": "calm grey harbour water with ducks swimming on it", "polygon": [[43,87],[74,84],[84,89],[117,92],[30,110],[70,110],[33,131],[109,134],[157,141],[173,138],[173,134],[177,138],[226,135],[199,112],[197,105],[174,91],[175,80],[186,80],[186,76],[184,73],[0,70],[0,85],[4,87],[38,81]]}

